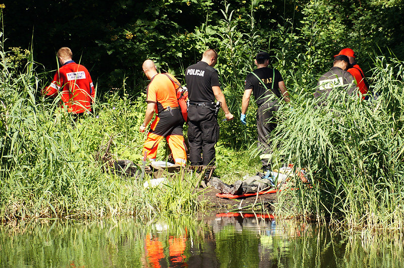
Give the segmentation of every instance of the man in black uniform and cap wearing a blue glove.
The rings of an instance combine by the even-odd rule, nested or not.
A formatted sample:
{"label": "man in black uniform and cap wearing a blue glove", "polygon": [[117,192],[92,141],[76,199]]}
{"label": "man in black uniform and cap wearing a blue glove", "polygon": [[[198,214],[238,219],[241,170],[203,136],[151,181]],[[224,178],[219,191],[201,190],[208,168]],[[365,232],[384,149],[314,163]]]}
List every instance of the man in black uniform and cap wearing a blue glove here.
{"label": "man in black uniform and cap wearing a blue glove", "polygon": [[245,78],[244,95],[241,107],[241,122],[245,125],[245,116],[248,109],[249,98],[252,94],[258,105],[257,129],[258,129],[258,150],[264,172],[271,170],[271,141],[269,134],[276,127],[274,112],[279,108],[279,100],[289,102],[289,94],[286,91],[282,76],[276,69],[268,68],[269,54],[265,51],[259,52],[255,60],[257,69],[249,73]]}

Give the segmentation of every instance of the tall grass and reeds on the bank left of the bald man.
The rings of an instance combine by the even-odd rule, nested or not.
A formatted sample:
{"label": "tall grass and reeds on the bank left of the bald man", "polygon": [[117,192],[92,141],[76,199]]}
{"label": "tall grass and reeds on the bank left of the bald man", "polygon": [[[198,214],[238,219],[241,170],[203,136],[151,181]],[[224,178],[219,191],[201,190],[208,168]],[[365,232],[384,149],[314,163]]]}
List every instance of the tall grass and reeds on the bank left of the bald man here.
{"label": "tall grass and reeds on the bank left of the bald man", "polygon": [[35,72],[31,56],[18,68],[8,65],[4,49],[0,57],[0,221],[147,219],[189,214],[200,207],[192,192],[197,177],[182,181],[179,174],[166,186],[144,189],[143,182],[121,178],[93,157],[104,140],[114,137],[115,158],[138,158],[144,141],[137,128],[143,99],[131,99],[125,92],[123,97],[110,95],[110,102],[95,104],[96,115],[72,125],[59,98],[39,94],[47,81]]}

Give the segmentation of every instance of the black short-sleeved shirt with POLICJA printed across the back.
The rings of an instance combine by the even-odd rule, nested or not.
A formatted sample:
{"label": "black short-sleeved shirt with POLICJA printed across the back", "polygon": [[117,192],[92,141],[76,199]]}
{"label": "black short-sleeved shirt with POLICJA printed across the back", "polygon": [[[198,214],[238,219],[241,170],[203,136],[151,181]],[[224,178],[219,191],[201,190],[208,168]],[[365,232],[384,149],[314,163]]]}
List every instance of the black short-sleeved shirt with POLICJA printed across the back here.
{"label": "black short-sleeved shirt with POLICJA printed across the back", "polygon": [[188,98],[194,102],[214,102],[212,87],[220,86],[218,71],[206,62],[198,62],[185,70]]}

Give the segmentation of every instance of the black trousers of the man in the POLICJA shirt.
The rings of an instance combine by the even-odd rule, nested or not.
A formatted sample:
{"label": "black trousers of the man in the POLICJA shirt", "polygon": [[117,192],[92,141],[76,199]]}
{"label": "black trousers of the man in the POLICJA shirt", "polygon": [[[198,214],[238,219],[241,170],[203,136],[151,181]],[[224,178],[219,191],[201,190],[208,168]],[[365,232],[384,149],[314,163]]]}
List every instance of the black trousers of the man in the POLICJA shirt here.
{"label": "black trousers of the man in the POLICJA shirt", "polygon": [[[215,144],[219,139],[219,124],[215,111],[208,106],[189,104],[188,143],[192,166],[214,165]],[[200,153],[202,152],[202,156]]]}

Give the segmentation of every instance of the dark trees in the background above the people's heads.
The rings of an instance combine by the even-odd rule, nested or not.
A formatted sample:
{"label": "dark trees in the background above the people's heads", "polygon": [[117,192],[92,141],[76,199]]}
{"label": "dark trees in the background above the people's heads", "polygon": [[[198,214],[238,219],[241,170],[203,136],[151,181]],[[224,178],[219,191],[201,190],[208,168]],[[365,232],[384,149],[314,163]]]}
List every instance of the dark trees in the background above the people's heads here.
{"label": "dark trees in the background above the people's heads", "polygon": [[3,10],[5,45],[29,48],[32,43],[35,61],[46,70],[57,68],[57,49],[69,46],[74,60],[98,78],[102,90],[122,86],[124,77],[129,88],[138,90],[145,59],[157,60],[164,70],[179,75],[208,47],[219,51],[219,63],[228,75],[248,68],[251,54],[259,49],[270,51],[278,61],[274,65],[283,69],[305,54],[322,59],[312,68],[323,70],[346,46],[362,61],[379,47],[379,53],[390,49],[402,59],[402,4],[402,0],[10,1]]}

